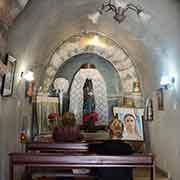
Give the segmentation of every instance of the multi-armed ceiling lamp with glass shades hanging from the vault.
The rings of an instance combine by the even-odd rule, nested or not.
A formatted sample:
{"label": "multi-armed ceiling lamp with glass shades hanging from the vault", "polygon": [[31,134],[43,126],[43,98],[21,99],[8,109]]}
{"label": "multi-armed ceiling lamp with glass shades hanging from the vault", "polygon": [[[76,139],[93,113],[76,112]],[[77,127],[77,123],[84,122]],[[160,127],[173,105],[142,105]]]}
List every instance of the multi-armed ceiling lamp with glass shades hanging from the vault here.
{"label": "multi-armed ceiling lamp with glass shades hanging from the vault", "polygon": [[104,2],[101,8],[93,13],[89,14],[88,18],[92,21],[93,24],[97,24],[100,15],[105,12],[112,12],[113,18],[118,23],[123,22],[129,11],[133,11],[141,20],[148,21],[151,16],[144,12],[144,10],[133,3],[127,3],[124,0],[108,0],[108,2]]}

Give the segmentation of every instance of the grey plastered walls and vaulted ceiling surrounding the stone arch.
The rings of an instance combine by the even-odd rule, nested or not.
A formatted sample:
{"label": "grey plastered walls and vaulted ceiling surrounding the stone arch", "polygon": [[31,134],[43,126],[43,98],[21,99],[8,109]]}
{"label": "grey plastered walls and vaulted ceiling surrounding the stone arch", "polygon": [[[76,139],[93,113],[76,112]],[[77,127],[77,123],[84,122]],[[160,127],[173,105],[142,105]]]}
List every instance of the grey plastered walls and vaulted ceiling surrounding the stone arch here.
{"label": "grey plastered walls and vaulted ceiling surrounding the stone arch", "polygon": [[[9,51],[18,60],[17,77],[32,64],[41,67],[38,72],[43,74],[54,49],[71,35],[84,30],[102,32],[129,52],[142,77],[145,95],[151,95],[153,90],[159,87],[163,74],[175,76],[176,93],[165,94],[165,110],[155,112],[155,120],[148,124],[157,164],[169,172],[173,180],[179,180],[179,1],[140,1],[152,14],[152,21],[148,25],[140,24],[133,17],[119,25],[110,15],[105,15],[95,26],[87,20],[87,14],[94,12],[101,2],[103,1],[31,0],[9,31]],[[15,86],[18,86],[18,82]],[[174,97],[176,103],[172,100]],[[8,174],[7,152],[11,150],[11,146],[18,147],[18,112],[16,99],[0,99],[2,180],[5,180]]]}

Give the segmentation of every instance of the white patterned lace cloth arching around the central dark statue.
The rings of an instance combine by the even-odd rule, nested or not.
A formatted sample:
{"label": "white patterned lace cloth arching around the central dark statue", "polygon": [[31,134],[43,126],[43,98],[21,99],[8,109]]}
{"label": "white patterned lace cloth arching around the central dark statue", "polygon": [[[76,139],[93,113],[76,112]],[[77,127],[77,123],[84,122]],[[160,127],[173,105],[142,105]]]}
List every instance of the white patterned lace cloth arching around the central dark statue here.
{"label": "white patterned lace cloth arching around the central dark statue", "polygon": [[83,116],[83,86],[86,79],[92,80],[96,112],[98,121],[96,125],[108,124],[107,89],[103,76],[97,69],[80,69],[75,75],[70,89],[70,112],[75,114],[77,124],[82,124]]}

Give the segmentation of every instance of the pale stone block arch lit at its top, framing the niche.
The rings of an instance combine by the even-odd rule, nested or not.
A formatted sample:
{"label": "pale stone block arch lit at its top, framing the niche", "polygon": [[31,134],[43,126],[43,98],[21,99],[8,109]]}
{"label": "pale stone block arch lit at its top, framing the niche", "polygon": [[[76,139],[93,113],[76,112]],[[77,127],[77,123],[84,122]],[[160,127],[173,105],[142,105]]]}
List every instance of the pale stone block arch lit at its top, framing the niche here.
{"label": "pale stone block arch lit at its top, framing the niche", "polygon": [[[99,43],[90,42],[93,37]],[[122,82],[123,94],[130,94],[133,82],[139,80],[135,65],[128,53],[113,40],[106,36],[89,32],[74,35],[64,41],[54,52],[45,72],[43,87],[47,90],[54,80],[59,67],[68,59],[82,53],[94,53],[109,61],[117,70]]]}

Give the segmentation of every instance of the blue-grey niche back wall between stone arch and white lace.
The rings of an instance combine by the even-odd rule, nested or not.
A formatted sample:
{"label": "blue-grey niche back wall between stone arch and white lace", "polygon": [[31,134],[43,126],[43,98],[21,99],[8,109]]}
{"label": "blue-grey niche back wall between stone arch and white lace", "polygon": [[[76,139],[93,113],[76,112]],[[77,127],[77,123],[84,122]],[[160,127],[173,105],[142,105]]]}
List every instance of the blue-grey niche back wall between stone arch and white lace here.
{"label": "blue-grey niche back wall between stone arch and white lace", "polygon": [[108,96],[117,96],[122,93],[122,84],[118,71],[108,60],[94,53],[82,53],[67,59],[57,70],[54,79],[63,77],[71,84],[74,75],[79,71],[82,64],[94,64],[96,66],[96,69],[101,73],[108,85]]}

